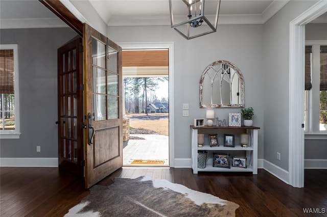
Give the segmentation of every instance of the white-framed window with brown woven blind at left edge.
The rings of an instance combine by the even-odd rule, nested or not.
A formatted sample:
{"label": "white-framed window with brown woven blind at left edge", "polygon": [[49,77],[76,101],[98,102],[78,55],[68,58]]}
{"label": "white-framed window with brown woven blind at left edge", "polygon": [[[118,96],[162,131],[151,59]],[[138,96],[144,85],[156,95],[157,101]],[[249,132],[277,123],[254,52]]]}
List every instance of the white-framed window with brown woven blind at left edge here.
{"label": "white-framed window with brown woven blind at left edge", "polygon": [[19,139],[18,46],[0,45],[0,137]]}

